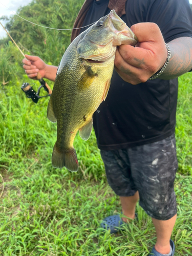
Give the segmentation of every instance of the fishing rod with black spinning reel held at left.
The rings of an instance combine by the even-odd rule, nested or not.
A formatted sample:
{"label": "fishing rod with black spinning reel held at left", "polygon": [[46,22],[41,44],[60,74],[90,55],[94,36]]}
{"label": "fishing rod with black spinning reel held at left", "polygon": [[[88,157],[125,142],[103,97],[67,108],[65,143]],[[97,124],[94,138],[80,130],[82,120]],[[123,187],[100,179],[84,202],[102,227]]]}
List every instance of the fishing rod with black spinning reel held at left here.
{"label": "fishing rod with black spinning reel held at left", "polygon": [[[2,25],[2,27],[5,29],[6,33],[9,35],[9,37],[11,38],[11,40],[13,41],[13,43],[15,44],[15,46],[18,48],[18,50],[20,51],[20,53],[22,53],[22,55],[24,56],[25,59],[26,56],[25,54],[22,52],[22,50],[20,50],[20,48],[17,46],[16,42],[13,40],[13,38],[11,37],[11,35],[8,33],[8,31],[6,30],[6,28],[3,26],[3,24],[0,22],[0,24]],[[51,88],[48,86],[47,82],[42,78],[41,74],[38,72],[37,76],[36,76],[37,80],[40,82],[40,87],[38,88],[37,92],[33,89],[33,87],[30,86],[30,84],[28,82],[24,82],[21,89],[22,91],[26,94],[26,96],[28,98],[31,98],[33,102],[37,103],[38,100],[40,98],[44,98],[44,97],[49,97],[51,96],[52,90]],[[40,96],[40,90],[41,88],[44,88],[44,90],[48,93],[45,96]]]}

